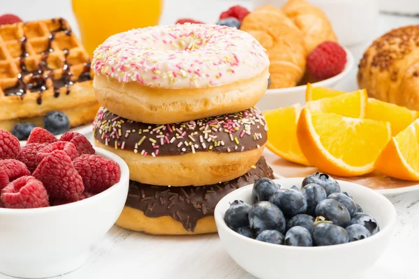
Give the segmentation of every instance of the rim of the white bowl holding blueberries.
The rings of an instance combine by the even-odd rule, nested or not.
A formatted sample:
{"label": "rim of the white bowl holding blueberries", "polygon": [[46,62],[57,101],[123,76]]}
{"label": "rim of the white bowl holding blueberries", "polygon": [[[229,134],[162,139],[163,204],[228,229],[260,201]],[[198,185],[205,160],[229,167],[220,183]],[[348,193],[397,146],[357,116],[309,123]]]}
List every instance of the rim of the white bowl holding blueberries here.
{"label": "rim of the white bowl holding blueberries", "polygon": [[[291,179],[304,179],[304,177],[293,177],[293,178],[283,178],[283,179],[272,179],[275,182],[279,182],[279,181],[284,181],[284,180],[291,180]],[[253,187],[253,184],[250,184],[248,186],[244,186],[242,188],[239,188],[237,190],[234,190],[231,193],[228,193],[226,196],[224,196],[219,203],[216,205],[215,210],[214,210],[214,218],[215,220],[219,220],[218,222],[216,222],[217,228],[219,225],[221,225],[221,227],[223,227],[223,229],[225,229],[226,231],[228,231],[228,234],[234,234],[234,236],[236,237],[241,237],[242,240],[244,241],[257,241],[257,243],[259,243],[260,245],[264,245],[267,247],[277,247],[277,249],[284,249],[284,250],[304,250],[304,252],[308,252],[308,251],[315,251],[315,252],[319,252],[321,250],[331,250],[331,249],[344,249],[344,248],[350,248],[353,246],[360,246],[363,245],[362,243],[367,243],[367,241],[374,241],[376,238],[378,238],[379,236],[381,236],[384,232],[388,232],[390,230],[392,230],[392,228],[395,226],[396,223],[396,219],[397,219],[397,211],[395,209],[395,206],[384,196],[381,195],[380,193],[376,193],[376,191],[371,190],[365,186],[362,186],[360,184],[356,184],[356,183],[352,183],[352,182],[348,182],[348,181],[341,181],[341,180],[337,180],[340,183],[344,183],[344,184],[351,184],[351,187],[361,187],[362,189],[365,189],[366,191],[368,191],[371,195],[374,195],[376,197],[378,197],[378,199],[381,199],[381,201],[383,202],[383,204],[387,204],[387,206],[392,208],[392,214],[389,217],[388,220],[388,225],[385,226],[383,229],[380,228],[380,231],[377,232],[376,234],[374,234],[373,236],[369,236],[367,239],[362,239],[361,241],[353,241],[353,242],[348,242],[348,243],[343,243],[343,244],[338,244],[338,245],[332,245],[332,246],[311,246],[311,247],[300,247],[300,246],[285,246],[285,245],[276,245],[276,244],[272,244],[272,243],[266,243],[263,241],[257,241],[256,239],[251,239],[247,236],[242,236],[241,234],[238,234],[237,232],[233,231],[233,229],[230,229],[227,225],[226,222],[224,221],[224,218],[220,217],[223,216],[223,214],[221,215],[221,209],[219,204],[221,204],[221,202],[224,202],[225,200],[228,199],[228,196],[232,193],[237,193],[237,191],[241,191],[241,192],[246,192],[248,190],[250,190]],[[373,216],[374,217],[374,216]],[[221,220],[220,220],[221,218]],[[378,224],[379,225],[379,224]]]}

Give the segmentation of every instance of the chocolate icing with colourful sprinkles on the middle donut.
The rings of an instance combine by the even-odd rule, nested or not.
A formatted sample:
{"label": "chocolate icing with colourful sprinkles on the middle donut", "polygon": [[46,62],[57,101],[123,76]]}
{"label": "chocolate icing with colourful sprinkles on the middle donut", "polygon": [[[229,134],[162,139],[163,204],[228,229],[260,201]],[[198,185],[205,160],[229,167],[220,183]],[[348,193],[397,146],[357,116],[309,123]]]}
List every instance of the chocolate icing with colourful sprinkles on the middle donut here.
{"label": "chocolate icing with colourful sprinkles on the middle donut", "polygon": [[94,120],[94,137],[98,142],[152,157],[258,149],[267,140],[266,131],[265,117],[255,107],[167,125],[131,121],[101,107]]}

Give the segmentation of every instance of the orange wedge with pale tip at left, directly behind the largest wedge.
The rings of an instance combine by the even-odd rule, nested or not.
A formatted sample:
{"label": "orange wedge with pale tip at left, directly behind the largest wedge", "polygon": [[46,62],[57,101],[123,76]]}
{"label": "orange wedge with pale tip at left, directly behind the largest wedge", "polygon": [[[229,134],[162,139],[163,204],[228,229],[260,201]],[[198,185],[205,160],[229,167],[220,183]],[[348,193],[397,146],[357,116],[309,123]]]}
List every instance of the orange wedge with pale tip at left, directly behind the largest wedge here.
{"label": "orange wedge with pale tip at left, directly behind the largest wedge", "polygon": [[323,98],[307,102],[311,112],[335,113],[346,117],[364,118],[367,107],[367,91],[358,90],[336,97]]}

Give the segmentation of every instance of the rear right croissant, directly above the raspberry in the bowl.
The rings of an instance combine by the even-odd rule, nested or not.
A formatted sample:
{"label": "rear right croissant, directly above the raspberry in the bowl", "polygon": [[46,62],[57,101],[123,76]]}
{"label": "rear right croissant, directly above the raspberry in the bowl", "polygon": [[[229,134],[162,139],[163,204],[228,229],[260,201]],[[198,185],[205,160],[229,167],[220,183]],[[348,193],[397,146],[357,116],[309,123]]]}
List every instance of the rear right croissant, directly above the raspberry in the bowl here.
{"label": "rear right croissant, directly above the raspberry in the bowl", "polygon": [[337,41],[335,31],[323,10],[306,0],[289,0],[281,9],[304,34],[307,53],[325,40]]}

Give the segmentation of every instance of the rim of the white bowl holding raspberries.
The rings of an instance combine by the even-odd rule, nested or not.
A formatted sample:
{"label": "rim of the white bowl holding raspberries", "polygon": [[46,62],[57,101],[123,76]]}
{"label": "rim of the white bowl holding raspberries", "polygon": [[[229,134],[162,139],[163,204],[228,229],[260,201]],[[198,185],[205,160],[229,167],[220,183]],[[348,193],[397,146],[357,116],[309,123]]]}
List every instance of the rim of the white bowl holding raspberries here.
{"label": "rim of the white bowl holding raspberries", "polygon": [[123,178],[127,177],[127,176],[129,177],[128,165],[126,165],[125,161],[122,160],[122,158],[117,156],[115,153],[112,153],[112,152],[107,151],[105,149],[101,149],[99,147],[94,147],[94,149],[96,151],[96,153],[95,153],[96,155],[104,156],[106,158],[109,158],[110,160],[113,160],[121,168],[121,178],[119,179],[119,182],[115,183],[115,185],[111,186],[110,188],[104,190],[101,193],[98,193],[98,194],[94,195],[93,197],[89,197],[87,199],[82,199],[81,201],[78,201],[78,202],[71,202],[69,204],[61,204],[61,205],[57,205],[57,206],[41,207],[41,208],[38,208],[38,209],[4,209],[4,208],[0,208],[0,216],[2,214],[21,216],[21,215],[36,215],[36,214],[43,214],[43,213],[52,213],[52,212],[57,212],[57,211],[66,211],[66,210],[71,210],[73,207],[76,207],[76,206],[87,205],[89,202],[94,202],[97,199],[101,199],[101,198],[105,197],[105,195],[113,195],[117,190],[119,190],[119,188],[124,187],[123,181],[125,179],[123,179]]}

